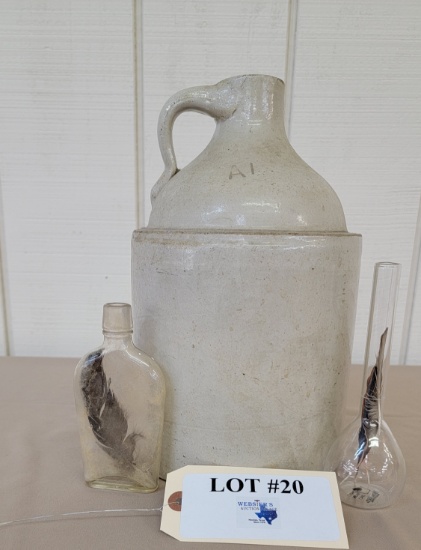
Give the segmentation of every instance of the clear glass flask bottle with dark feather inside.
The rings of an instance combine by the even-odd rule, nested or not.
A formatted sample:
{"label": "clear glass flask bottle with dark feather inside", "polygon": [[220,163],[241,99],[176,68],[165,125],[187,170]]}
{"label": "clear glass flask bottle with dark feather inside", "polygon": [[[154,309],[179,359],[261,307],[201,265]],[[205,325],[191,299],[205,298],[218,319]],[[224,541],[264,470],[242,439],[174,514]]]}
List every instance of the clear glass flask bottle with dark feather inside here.
{"label": "clear glass flask bottle with dark feather inside", "polygon": [[86,483],[148,493],[158,487],[165,381],[132,331],[129,304],[104,305],[104,342],[79,361],[74,393]]}

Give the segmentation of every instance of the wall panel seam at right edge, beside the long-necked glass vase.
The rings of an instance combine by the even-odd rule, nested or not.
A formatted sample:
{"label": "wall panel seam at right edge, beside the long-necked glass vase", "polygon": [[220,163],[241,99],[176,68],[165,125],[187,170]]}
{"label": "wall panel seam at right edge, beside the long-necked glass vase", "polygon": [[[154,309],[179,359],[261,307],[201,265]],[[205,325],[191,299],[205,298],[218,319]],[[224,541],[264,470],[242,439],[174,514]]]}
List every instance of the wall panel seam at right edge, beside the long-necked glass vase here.
{"label": "wall panel seam at right edge, beside the long-necked glass vase", "polygon": [[[415,293],[417,290],[417,281],[420,275],[421,259],[421,197],[418,207],[418,218],[414,236],[414,248],[412,252],[411,267],[408,280],[408,291],[406,294],[405,313],[403,318],[403,328],[401,337],[401,347],[399,351],[399,364],[406,365],[408,357],[409,340],[411,334],[411,323],[414,310]],[[419,284],[419,283],[418,283]]]}

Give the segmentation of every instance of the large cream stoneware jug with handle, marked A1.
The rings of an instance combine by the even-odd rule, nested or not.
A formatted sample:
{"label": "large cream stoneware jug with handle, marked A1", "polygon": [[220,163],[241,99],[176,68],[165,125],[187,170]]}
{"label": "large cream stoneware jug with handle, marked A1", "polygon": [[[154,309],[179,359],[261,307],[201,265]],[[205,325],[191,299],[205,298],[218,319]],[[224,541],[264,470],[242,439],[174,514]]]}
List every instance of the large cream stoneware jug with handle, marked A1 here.
{"label": "large cream stoneware jug with handle, marked A1", "polygon": [[[132,239],[135,344],[167,382],[161,474],[187,464],[320,469],[350,363],[361,236],[294,151],[284,84],[238,76],[162,109],[165,163]],[[183,169],[176,117],[215,119]]]}

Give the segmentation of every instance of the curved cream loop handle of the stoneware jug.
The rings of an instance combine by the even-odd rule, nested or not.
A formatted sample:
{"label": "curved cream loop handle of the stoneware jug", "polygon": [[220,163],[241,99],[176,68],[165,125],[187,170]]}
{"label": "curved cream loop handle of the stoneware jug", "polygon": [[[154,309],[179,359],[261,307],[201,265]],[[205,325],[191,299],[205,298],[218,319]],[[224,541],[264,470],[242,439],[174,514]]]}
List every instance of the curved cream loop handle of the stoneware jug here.
{"label": "curved cream loop handle of the stoneware jug", "polygon": [[[228,92],[228,93],[227,93]],[[173,127],[176,118],[185,111],[196,111],[209,115],[215,120],[224,120],[232,115],[237,101],[227,88],[215,86],[195,86],[174,94],[161,110],[158,121],[158,143],[165,169],[153,186],[153,201],[162,187],[179,172],[173,144]]]}

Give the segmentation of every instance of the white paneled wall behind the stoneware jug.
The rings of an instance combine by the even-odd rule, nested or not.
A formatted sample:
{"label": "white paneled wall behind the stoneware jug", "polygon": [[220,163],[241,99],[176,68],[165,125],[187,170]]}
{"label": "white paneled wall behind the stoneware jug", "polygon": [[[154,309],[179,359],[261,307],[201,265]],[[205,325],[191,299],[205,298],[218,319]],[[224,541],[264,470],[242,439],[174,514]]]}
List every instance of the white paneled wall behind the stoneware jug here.
{"label": "white paneled wall behind the stoneware jug", "polygon": [[[421,363],[421,3],[2,0],[0,354],[79,356],[130,301],[130,237],[162,170],[159,111],[228,76],[285,79],[298,153],[364,237],[354,361],[373,265],[402,263],[393,361]],[[181,166],[211,119],[176,123]]]}

